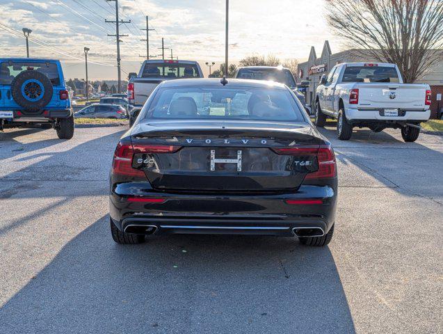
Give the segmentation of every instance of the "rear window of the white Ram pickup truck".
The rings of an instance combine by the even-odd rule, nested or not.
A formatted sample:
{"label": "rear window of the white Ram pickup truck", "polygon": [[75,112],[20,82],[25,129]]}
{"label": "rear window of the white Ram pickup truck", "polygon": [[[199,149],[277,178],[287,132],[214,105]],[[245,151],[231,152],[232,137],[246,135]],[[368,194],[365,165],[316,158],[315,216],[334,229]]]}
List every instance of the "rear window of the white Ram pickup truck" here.
{"label": "rear window of the white Ram pickup truck", "polygon": [[344,70],[341,82],[399,82],[395,67],[351,66]]}

